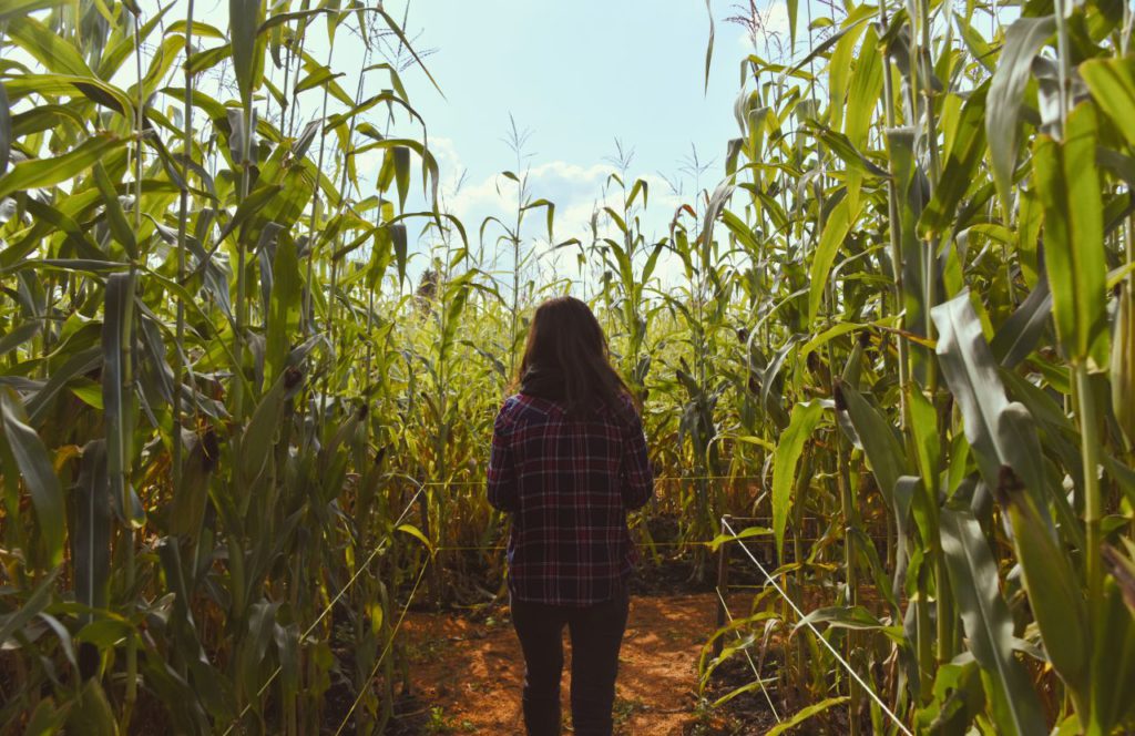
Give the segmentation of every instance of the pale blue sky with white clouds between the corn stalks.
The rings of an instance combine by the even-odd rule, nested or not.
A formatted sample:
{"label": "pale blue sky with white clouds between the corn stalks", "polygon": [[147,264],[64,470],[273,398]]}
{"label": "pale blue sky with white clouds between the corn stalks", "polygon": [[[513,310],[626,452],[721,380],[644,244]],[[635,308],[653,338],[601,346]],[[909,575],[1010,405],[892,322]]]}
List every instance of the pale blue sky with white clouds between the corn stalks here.
{"label": "pale blue sky with white clouds between the corn stalks", "polygon": [[[400,18],[404,6],[387,3]],[[412,0],[409,28],[421,33],[417,45],[436,49],[426,64],[445,97],[417,69],[404,81],[429,126],[448,204],[466,228],[474,232],[514,201],[511,183],[499,176],[516,168],[504,140],[511,114],[530,132],[532,195],[556,202],[556,240],[586,237],[614,170],[616,139],[633,151],[631,178],[650,184],[644,229],[662,235],[696,184],[716,185],[725,145],[738,135],[732,106],[739,62],[751,47],[741,27],[723,23],[732,0],[715,0],[712,9],[716,43],[706,91],[709,16],[703,0]],[[691,145],[714,162],[699,182],[682,173]],[[465,181],[453,193],[459,172]],[[536,215],[530,234],[541,229]]]}

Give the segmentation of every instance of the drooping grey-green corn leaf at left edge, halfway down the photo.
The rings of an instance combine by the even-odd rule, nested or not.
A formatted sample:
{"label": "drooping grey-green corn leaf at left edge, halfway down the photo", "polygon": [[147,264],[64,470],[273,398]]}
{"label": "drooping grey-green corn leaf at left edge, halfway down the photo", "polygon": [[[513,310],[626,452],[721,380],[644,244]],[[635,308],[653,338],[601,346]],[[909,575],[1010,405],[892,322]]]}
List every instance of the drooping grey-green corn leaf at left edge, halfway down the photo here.
{"label": "drooping grey-green corn leaf at left edge, halfway down the photo", "polygon": [[[59,476],[51,466],[51,457],[40,435],[28,426],[27,415],[19,398],[10,388],[0,390],[0,424],[7,444],[5,455],[16,467],[6,467],[5,475],[24,478],[40,533],[48,547],[48,560],[57,567],[64,559],[64,527],[66,511]],[[7,461],[5,466],[7,466]],[[9,509],[15,512],[15,509]],[[0,637],[2,641],[2,637]]]}

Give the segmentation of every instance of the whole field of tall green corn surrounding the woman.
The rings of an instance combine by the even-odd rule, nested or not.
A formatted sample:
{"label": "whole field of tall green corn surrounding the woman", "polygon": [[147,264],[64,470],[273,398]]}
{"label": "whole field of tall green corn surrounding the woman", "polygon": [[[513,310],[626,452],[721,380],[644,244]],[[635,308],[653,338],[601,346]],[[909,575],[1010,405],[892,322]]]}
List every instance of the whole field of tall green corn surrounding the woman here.
{"label": "whole field of tall green corn surrounding the woman", "polygon": [[785,729],[1135,729],[1132,6],[815,5],[741,60],[720,183],[653,242],[615,174],[546,279],[522,170],[446,210],[381,3],[0,3],[0,731],[392,727],[413,592],[502,593],[493,418],[580,288],[664,478],[647,564],[656,518],[697,578],[715,537],[775,561],[703,685],[755,656]]}

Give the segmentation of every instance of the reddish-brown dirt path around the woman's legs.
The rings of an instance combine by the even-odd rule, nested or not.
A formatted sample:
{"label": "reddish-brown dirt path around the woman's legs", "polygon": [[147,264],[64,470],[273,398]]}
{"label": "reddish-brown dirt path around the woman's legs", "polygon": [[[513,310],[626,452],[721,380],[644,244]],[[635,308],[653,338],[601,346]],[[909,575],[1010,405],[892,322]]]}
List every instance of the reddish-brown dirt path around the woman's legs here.
{"label": "reddish-brown dirt path around the woman's legs", "polygon": [[[631,599],[620,655],[616,734],[688,733],[695,721],[698,656],[716,628],[715,600],[707,593]],[[414,613],[406,620],[411,681],[435,730],[523,733],[524,664],[507,614],[502,607],[484,622],[446,613]],[[566,714],[570,663],[564,669]]]}

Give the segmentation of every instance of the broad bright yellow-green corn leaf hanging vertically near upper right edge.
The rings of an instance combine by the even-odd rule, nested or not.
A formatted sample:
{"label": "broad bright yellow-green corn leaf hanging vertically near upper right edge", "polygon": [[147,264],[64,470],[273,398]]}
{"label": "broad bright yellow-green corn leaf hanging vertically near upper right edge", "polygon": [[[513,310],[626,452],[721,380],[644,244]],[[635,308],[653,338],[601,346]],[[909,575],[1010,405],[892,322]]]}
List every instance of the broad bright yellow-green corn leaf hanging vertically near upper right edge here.
{"label": "broad bright yellow-green corn leaf hanging vertically near upper right edge", "polygon": [[1108,363],[1108,271],[1095,148],[1094,108],[1079,104],[1068,116],[1062,143],[1037,136],[1033,176],[1044,208],[1044,262],[1060,348],[1074,362],[1102,368]]}

